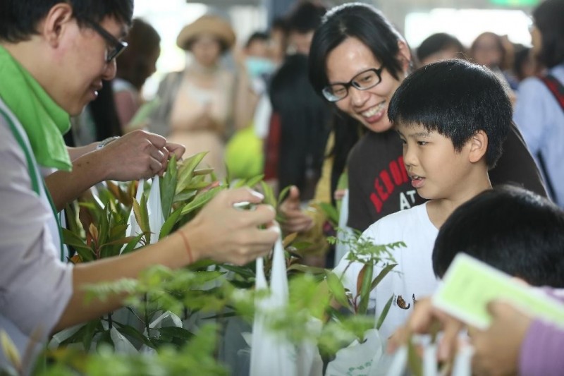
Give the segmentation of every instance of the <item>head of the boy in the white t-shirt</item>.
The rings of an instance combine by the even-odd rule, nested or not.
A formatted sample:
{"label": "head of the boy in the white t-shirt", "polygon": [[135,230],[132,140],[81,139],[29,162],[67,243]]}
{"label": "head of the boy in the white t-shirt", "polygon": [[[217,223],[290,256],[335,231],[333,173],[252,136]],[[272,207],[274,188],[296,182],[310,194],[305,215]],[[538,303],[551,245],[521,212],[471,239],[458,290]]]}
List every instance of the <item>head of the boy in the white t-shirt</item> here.
{"label": "head of the boy in the white t-shirt", "polygon": [[[439,190],[448,181],[472,182],[472,174],[483,176],[495,166],[512,108],[489,69],[446,60],[408,76],[391,98],[388,116],[404,142],[404,163],[419,195],[443,198]],[[441,189],[430,190],[427,173],[440,175],[435,183]],[[419,189],[424,185],[427,190]]]}

